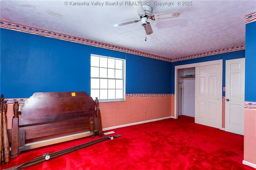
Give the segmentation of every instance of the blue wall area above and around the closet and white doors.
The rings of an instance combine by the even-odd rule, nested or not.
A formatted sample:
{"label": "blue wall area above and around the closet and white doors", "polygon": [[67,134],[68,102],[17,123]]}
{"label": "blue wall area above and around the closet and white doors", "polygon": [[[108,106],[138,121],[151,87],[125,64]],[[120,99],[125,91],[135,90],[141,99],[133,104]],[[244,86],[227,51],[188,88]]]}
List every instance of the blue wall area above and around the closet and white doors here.
{"label": "blue wall area above and around the closet and white doors", "polygon": [[[222,53],[218,55],[211,55],[208,57],[200,57],[195,59],[189,59],[184,61],[177,61],[172,63],[172,72],[175,71],[175,66],[178,65],[184,65],[184,64],[192,64],[192,63],[200,63],[200,62],[206,62],[206,61],[214,61],[214,60],[220,60],[222,59],[222,87],[225,87],[225,69],[226,69],[226,60],[230,59],[238,59],[238,58],[244,58],[245,57],[245,50],[240,51],[234,51],[230,53]],[[172,74],[171,81],[174,82],[174,74]],[[172,93],[174,93],[174,83],[172,83]],[[222,96],[225,96],[225,92],[222,92]]]}

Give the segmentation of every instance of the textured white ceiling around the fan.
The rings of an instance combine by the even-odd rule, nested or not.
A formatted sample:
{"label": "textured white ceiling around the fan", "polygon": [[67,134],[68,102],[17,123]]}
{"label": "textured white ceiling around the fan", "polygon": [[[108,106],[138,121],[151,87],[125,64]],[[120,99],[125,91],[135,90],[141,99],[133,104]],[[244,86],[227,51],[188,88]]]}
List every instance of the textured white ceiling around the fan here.
{"label": "textured white ceiling around the fan", "polygon": [[[89,5],[72,5],[76,2]],[[92,5],[93,2],[103,5]],[[150,2],[153,14],[176,10],[182,13],[178,18],[149,20],[154,32],[147,35],[147,41],[140,22],[113,26],[138,20],[136,10],[128,5],[129,0],[0,0],[0,20],[177,58],[244,45],[245,16],[256,12],[256,0],[192,0],[192,5],[178,5],[182,1],[168,0],[146,2]]]}

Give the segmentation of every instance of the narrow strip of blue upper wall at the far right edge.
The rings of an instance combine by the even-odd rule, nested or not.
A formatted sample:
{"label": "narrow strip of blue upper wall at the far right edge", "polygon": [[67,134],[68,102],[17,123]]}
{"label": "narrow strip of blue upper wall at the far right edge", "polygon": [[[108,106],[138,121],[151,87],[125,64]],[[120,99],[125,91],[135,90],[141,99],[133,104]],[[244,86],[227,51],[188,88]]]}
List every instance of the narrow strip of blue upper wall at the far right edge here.
{"label": "narrow strip of blue upper wall at the far right edge", "polygon": [[246,24],[245,46],[244,100],[256,102],[256,21]]}

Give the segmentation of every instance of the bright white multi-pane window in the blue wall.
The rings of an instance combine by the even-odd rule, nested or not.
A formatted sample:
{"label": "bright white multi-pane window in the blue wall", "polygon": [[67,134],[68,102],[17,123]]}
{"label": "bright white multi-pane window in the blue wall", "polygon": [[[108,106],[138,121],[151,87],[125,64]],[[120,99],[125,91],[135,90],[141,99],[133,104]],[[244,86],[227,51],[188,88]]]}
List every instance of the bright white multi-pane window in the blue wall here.
{"label": "bright white multi-pane window in the blue wall", "polygon": [[91,96],[100,101],[124,100],[125,60],[91,54]]}

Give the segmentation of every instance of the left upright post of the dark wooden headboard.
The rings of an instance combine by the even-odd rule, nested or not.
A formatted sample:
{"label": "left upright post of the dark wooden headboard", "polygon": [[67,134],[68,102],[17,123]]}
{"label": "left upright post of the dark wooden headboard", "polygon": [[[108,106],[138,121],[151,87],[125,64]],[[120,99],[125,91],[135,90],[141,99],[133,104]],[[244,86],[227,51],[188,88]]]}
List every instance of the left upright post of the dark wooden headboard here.
{"label": "left upright post of the dark wooden headboard", "polygon": [[11,150],[11,158],[16,158],[18,156],[18,110],[19,110],[19,104],[18,102],[14,102],[13,105],[13,113],[14,116],[12,118],[12,150]]}

